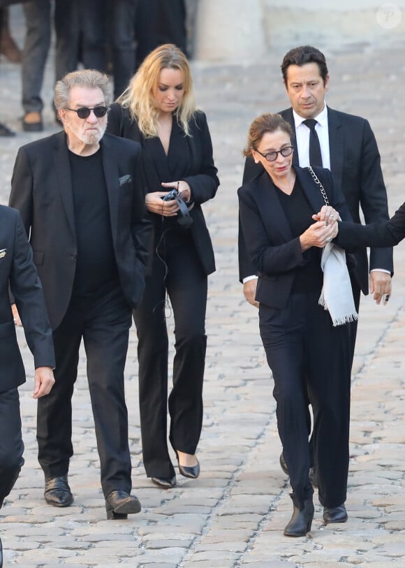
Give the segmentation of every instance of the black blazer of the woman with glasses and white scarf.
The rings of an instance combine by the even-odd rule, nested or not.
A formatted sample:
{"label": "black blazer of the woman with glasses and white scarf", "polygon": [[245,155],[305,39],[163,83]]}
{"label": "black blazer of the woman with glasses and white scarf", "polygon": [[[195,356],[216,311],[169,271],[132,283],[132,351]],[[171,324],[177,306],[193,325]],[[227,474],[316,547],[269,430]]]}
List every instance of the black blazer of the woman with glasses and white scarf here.
{"label": "black blazer of the woman with glasses and white scarf", "polygon": [[[325,205],[319,187],[307,169],[295,167],[297,180],[314,213]],[[328,201],[339,211],[341,219],[351,220],[341,191],[334,187],[329,170],[314,168],[325,188]],[[295,268],[302,265],[300,238],[293,238],[290,224],[281,207],[270,176],[263,173],[238,189],[240,220],[246,249],[258,274],[256,300],[283,309],[288,303],[295,277]],[[308,219],[308,226],[312,219]]]}

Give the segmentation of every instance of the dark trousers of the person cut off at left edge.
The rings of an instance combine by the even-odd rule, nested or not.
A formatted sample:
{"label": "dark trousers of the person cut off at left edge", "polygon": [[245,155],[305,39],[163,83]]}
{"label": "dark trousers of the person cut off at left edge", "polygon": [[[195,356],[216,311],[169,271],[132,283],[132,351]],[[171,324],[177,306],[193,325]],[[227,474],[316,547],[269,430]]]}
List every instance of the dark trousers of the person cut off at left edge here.
{"label": "dark trousers of the person cut off at left edge", "polygon": [[0,507],[24,465],[18,389],[0,393]]}

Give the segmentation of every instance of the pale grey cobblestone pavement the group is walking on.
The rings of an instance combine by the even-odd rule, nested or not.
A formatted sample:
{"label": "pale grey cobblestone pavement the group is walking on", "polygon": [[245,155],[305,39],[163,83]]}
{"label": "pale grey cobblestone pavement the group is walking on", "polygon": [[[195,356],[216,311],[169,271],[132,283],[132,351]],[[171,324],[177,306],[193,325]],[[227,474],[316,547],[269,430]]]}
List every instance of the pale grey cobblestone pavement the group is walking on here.
{"label": "pale grey cobblestone pavement the group is walking on", "polygon": [[[18,22],[16,33],[21,32]],[[353,45],[340,52],[324,51],[331,75],[328,103],[370,120],[393,213],[405,196],[403,50]],[[27,384],[20,389],[26,463],[0,511],[6,566],[405,567],[403,244],[395,249],[390,303],[377,307],[371,298],[362,298],[353,367],[348,523],[325,527],[316,499],[310,534],[298,539],[282,534],[292,507],[288,479],[279,467],[272,379],[258,336],[257,312],[244,302],[237,282],[236,196],[242,177],[240,152],[251,119],[288,102],[279,72],[282,55],[274,52],[250,66],[193,62],[198,103],[209,118],[221,177],[217,197],[205,206],[217,271],[209,278],[200,478],[177,476],[177,488],[160,490],[145,477],[132,330],[126,396],[133,488],[142,511],[125,521],[105,518],[84,356],[73,398],[70,481],[75,501],[66,509],[48,507],[36,460],[32,359],[19,331],[28,370]],[[56,129],[50,108],[52,57],[44,94],[45,136]],[[0,100],[0,119],[17,130],[15,139],[0,138],[0,202],[6,203],[17,147],[36,136],[21,131],[19,68],[3,58]],[[172,330],[172,319],[169,322]]]}

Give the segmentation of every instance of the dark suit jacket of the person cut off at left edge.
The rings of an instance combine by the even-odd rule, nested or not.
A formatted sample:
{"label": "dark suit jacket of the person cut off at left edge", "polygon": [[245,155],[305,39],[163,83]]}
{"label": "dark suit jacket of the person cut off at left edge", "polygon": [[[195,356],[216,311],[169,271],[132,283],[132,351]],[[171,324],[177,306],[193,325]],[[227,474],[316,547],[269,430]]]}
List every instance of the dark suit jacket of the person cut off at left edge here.
{"label": "dark suit jacket of the person cut off at left edge", "polygon": [[35,367],[54,367],[52,330],[24,226],[17,211],[0,205],[0,392],[25,381],[9,287]]}

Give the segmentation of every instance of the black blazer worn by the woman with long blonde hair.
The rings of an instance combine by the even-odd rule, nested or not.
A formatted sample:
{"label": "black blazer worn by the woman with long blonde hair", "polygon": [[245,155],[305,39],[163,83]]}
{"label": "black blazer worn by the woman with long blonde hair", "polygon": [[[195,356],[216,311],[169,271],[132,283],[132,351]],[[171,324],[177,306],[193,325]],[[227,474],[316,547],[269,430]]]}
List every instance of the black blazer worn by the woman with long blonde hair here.
{"label": "black blazer worn by the woman with long blonde hair", "polygon": [[[214,249],[212,248],[201,204],[212,199],[219,186],[217,169],[212,157],[212,142],[204,112],[198,111],[189,122],[191,136],[173,120],[168,156],[165,156],[159,138],[145,138],[133,122],[128,109],[118,103],[111,105],[108,115],[108,132],[139,142],[142,146],[142,163],[145,172],[145,193],[164,191],[161,182],[184,180],[191,187],[194,207],[191,210],[193,224],[190,235],[205,274],[215,270]],[[177,137],[182,144],[172,143]],[[184,140],[186,144],[184,145]],[[185,150],[183,153],[182,150]],[[153,216],[154,214],[151,213]]]}

